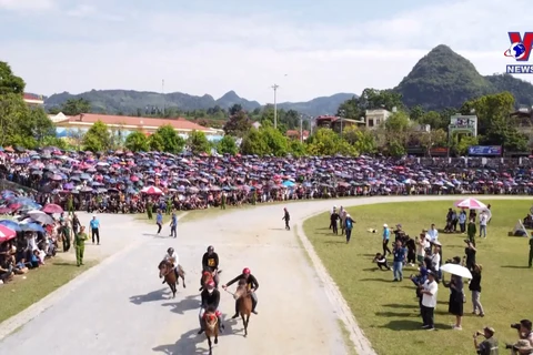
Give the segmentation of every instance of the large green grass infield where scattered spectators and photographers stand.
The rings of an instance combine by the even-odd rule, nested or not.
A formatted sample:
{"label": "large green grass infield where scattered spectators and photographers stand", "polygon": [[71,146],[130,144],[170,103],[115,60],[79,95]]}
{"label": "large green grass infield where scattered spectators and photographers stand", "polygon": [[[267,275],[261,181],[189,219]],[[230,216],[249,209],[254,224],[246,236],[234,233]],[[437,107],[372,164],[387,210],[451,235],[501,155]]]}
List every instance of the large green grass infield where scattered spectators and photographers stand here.
{"label": "large green grass infield where scattered spectators and photographers stand", "polygon": [[[483,326],[496,329],[501,353],[506,354],[504,343],[515,342],[517,336],[510,328],[512,323],[532,318],[530,297],[533,294],[527,268],[529,244],[525,237],[507,236],[516,221],[529,212],[531,201],[490,201],[492,221],[487,239],[477,240],[477,263],[483,265],[481,302],[485,317],[471,314],[471,293],[465,283],[463,331],[452,331],[454,316],[447,314],[450,292],[439,285],[439,304],[435,310],[435,332],[421,329],[419,305],[414,285],[406,277],[416,273],[415,267],[404,268],[404,281],[392,283],[392,271],[380,271],[372,263],[373,255],[381,252],[383,223],[398,223],[412,237],[422,229],[435,223],[444,227],[451,201],[384,203],[349,209],[356,221],[352,241],[345,244],[343,236],[329,230],[329,212],[309,219],[303,229],[331,276],[339,285],[360,326],[380,355],[457,355],[475,354],[472,335]],[[376,234],[366,232],[378,230]],[[440,233],[443,260],[463,256],[465,235]],[[445,275],[450,280],[449,275]]]}

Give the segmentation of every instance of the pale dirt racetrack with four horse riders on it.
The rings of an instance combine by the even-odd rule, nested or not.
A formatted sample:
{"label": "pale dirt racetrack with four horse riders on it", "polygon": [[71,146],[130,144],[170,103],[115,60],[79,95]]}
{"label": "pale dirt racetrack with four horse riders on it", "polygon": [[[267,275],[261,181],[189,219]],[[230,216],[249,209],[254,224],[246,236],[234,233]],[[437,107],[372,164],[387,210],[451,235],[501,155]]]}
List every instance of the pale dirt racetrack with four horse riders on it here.
{"label": "pale dirt racetrack with four horse riders on it", "polygon": [[[438,199],[410,197],[411,201]],[[332,204],[342,202],[349,206],[391,200],[403,199],[313,201],[288,206],[293,217],[291,224],[298,225],[313,214],[328,211]],[[348,354],[338,320],[346,324],[359,354],[373,354],[336,286],[302,235],[302,229],[298,229],[298,234],[309,248],[316,271],[309,264],[295,233],[284,231],[282,207],[258,206],[179,224],[175,240],[153,236],[153,226],[102,215],[102,233],[109,235],[100,245],[102,255],[103,246],[112,245],[113,239],[121,243],[125,240],[128,246],[118,252],[117,241],[117,254],[30,307],[33,310],[26,312],[26,318],[1,324],[0,337],[7,329],[33,318],[0,343],[0,348],[17,349],[20,355],[42,352],[43,346],[47,353],[57,355],[207,354],[204,337],[195,334],[198,287],[201,256],[212,244],[221,257],[222,282],[245,266],[260,282],[260,314],[252,315],[249,337],[242,337],[240,322],[225,322],[227,332],[214,354]],[[188,273],[188,287],[180,288],[175,300],[169,300],[165,285],[157,276],[157,264],[169,246],[178,251]],[[88,246],[89,253],[97,247]],[[223,293],[220,310],[229,317],[233,307],[231,295]]]}

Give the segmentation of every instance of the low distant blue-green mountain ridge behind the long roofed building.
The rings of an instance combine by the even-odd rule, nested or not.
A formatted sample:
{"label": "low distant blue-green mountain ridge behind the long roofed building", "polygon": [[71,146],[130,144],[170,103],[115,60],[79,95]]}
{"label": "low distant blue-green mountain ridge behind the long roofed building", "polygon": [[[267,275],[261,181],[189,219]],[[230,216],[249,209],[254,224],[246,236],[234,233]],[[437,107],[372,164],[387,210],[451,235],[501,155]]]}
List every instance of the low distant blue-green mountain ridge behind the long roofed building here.
{"label": "low distant blue-green mountain ridge behind the long roofed building", "polygon": [[[278,106],[285,110],[296,110],[300,113],[310,115],[334,113],[342,102],[353,95],[353,93],[338,93],[332,97],[316,98],[309,102],[283,102],[279,103]],[[91,90],[80,94],[62,92],[47,98],[44,105],[47,108],[59,106],[69,99],[80,98],[90,101],[94,112],[122,112],[124,114],[132,114],[138,109],[144,110],[147,106],[175,108],[182,111],[208,110],[217,105],[222,109],[229,109],[233,104],[240,104],[248,111],[261,108],[259,102],[240,98],[234,91],[229,91],[215,100],[208,94],[195,97],[181,92],[162,94],[132,90]]]}

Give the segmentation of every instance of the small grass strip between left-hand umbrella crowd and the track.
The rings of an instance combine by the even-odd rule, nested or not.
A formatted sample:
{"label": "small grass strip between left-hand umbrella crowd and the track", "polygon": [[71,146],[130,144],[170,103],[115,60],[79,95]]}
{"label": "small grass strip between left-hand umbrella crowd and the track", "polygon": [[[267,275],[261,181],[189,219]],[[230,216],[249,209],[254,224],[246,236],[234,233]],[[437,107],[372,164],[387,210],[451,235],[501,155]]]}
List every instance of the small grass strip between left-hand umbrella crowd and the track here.
{"label": "small grass strip between left-hand umbrella crowd and the track", "polygon": [[97,262],[89,261],[78,267],[76,262],[56,257],[47,261],[44,266],[30,270],[26,275],[17,275],[12,282],[0,285],[0,323],[28,308],[95,264]]}

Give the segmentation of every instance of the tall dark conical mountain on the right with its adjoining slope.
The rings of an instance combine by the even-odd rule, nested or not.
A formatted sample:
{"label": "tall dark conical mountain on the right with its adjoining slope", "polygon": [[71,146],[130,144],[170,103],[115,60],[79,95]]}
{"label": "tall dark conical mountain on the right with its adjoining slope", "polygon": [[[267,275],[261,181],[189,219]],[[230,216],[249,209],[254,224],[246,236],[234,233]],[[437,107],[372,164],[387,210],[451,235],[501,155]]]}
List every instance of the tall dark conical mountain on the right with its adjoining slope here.
{"label": "tall dark conical mountain on the right with its adjoining slope", "polygon": [[440,44],[414,65],[393,89],[408,106],[426,110],[460,108],[465,101],[484,94],[511,92],[516,104],[533,103],[533,85],[509,74],[481,75],[467,59]]}

